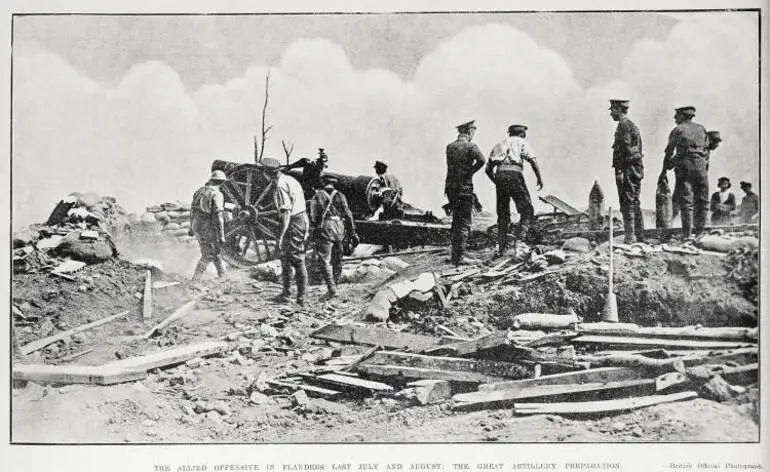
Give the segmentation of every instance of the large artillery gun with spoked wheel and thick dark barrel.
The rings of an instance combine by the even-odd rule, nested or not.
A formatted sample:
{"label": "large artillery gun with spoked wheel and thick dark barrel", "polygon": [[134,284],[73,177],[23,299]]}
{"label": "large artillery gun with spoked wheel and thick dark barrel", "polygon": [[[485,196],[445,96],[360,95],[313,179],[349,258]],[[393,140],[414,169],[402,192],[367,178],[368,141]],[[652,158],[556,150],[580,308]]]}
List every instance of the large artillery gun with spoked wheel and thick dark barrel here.
{"label": "large artillery gun with spoked wheel and thick dark barrel", "polygon": [[[401,249],[449,241],[449,225],[441,224],[430,211],[403,202],[380,178],[325,172],[327,162],[320,149],[316,159],[300,159],[283,166],[282,171],[300,182],[308,201],[320,187],[322,174],[337,178],[335,187],[347,197],[362,243]],[[275,189],[262,166],[216,160],[211,170],[223,171],[228,179],[221,186],[225,196],[224,258],[241,267],[277,258],[280,222]],[[375,218],[380,209],[379,218]]]}

